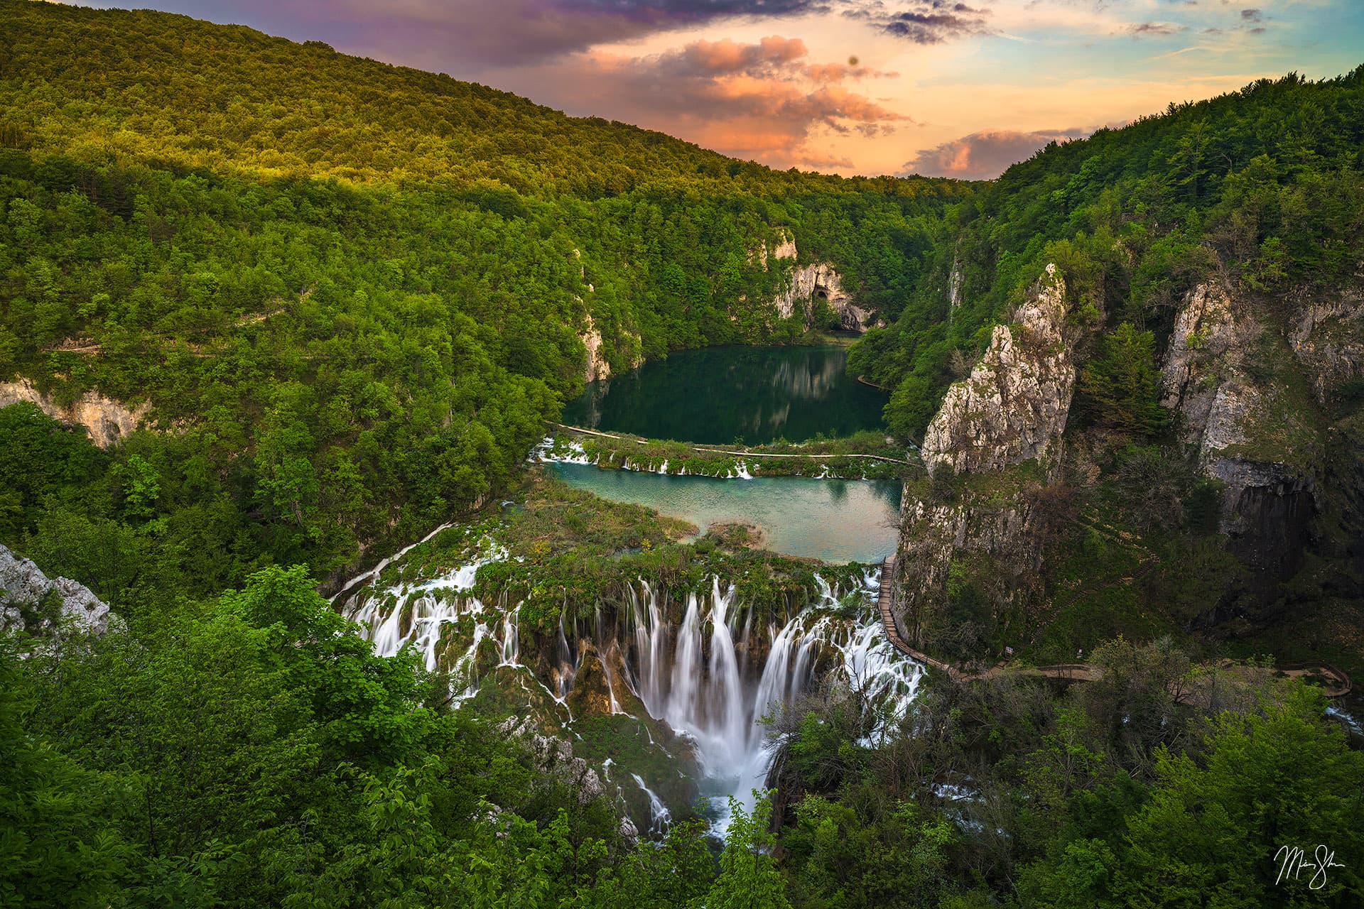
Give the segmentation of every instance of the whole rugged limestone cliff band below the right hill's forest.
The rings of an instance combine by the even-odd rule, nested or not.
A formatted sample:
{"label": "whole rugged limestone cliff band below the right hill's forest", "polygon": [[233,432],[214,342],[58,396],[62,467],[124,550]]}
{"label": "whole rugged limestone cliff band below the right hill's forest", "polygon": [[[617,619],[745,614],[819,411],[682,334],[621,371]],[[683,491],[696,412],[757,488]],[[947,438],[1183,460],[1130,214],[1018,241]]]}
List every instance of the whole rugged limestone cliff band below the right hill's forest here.
{"label": "whole rugged limestone cliff band below the right hill's forest", "polygon": [[[1184,294],[1169,328],[1161,402],[1173,432],[1133,437],[1102,422],[1068,425],[1073,358],[1094,335],[1067,327],[1054,268],[1011,324],[994,327],[929,424],[930,476],[904,487],[896,620],[906,638],[930,653],[994,658],[1000,639],[1020,634],[1009,621],[1045,626],[1072,604],[1123,597],[1161,609],[1161,590],[1177,583],[1161,572],[1178,571],[1178,556],[1143,527],[1174,525],[1147,525],[1147,506],[1120,497],[1140,496],[1131,484],[1143,476],[1157,489],[1174,484],[1162,495],[1176,497],[1187,541],[1207,553],[1225,540],[1243,566],[1210,568],[1206,593],[1168,620],[1254,624],[1294,598],[1364,593],[1364,294],[1267,294],[1210,275]],[[1131,454],[1142,451],[1133,442],[1147,454]],[[1138,457],[1162,473],[1124,478],[1125,459]],[[1199,522],[1215,522],[1195,525],[1195,507]],[[1093,557],[1071,559],[1091,544]],[[1163,579],[1143,591],[1142,576]]]}

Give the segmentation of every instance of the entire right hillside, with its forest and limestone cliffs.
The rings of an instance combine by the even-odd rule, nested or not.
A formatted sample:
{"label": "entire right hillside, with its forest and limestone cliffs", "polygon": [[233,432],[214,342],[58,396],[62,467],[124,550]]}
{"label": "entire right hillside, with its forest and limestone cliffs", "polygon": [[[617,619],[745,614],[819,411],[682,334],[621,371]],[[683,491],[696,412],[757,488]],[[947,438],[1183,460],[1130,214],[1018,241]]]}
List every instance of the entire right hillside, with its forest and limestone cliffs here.
{"label": "entire right hillside, with its forest and limestone cliffs", "polygon": [[933,470],[902,536],[930,651],[1170,634],[1364,668],[1361,147],[1364,67],[1288,75],[1049,146],[949,210],[850,354]]}

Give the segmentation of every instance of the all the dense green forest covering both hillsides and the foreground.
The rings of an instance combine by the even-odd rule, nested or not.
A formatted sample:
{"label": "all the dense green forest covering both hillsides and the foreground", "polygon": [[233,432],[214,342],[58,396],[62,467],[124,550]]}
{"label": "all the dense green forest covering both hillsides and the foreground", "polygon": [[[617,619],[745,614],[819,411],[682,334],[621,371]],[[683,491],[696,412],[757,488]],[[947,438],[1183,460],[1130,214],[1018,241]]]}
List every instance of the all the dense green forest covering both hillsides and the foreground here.
{"label": "all the dense green forest covering both hillsides and the foreground", "polygon": [[[97,448],[0,409],[0,544],[120,616],[0,635],[0,906],[1359,904],[1360,736],[1316,688],[1159,635],[1240,570],[1170,444],[1154,352],[1209,270],[1270,304],[1357,270],[1364,68],[966,185],[772,172],[166,14],[0,0],[0,382],[149,402],[153,422]],[[1037,507],[1065,527],[1048,583],[1102,597],[1033,646],[1082,645],[1099,677],[934,675],[876,741],[855,687],[816,690],[771,717],[777,789],[723,845],[694,820],[632,844],[610,799],[537,773],[411,651],[375,656],[318,582],[498,519],[581,388],[588,316],[617,368],[798,339],[760,303],[780,277],[757,252],[786,233],[891,323],[851,363],[896,388],[887,424],[910,439],[1060,267],[1086,338],[1078,425],[1105,442],[1088,500]],[[1333,403],[1341,446],[1359,403]],[[917,482],[949,500],[964,481]],[[537,518],[543,561],[501,568],[552,608],[578,583],[593,611],[607,560],[722,548],[574,507]],[[1076,537],[1084,508],[1117,530]],[[783,593],[743,559],[742,596]],[[1109,583],[1148,563],[1139,597]],[[536,589],[546,566],[557,589]],[[968,568],[936,641],[962,660],[1005,641]],[[1349,590],[1323,576],[1300,586]],[[1337,864],[1285,878],[1274,844]]]}

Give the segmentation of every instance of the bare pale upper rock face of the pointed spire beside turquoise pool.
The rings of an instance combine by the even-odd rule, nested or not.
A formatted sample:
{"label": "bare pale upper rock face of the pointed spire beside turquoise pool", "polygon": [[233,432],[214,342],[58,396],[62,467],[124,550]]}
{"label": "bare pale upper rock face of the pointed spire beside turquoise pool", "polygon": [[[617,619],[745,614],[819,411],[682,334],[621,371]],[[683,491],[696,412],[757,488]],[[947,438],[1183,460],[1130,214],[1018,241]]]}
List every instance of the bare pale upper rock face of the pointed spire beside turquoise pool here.
{"label": "bare pale upper rock face of the pointed spire beside turquoise pool", "polygon": [[1063,339],[1065,283],[1056,266],[1013,313],[1018,333],[994,326],[990,346],[970,378],[953,383],[923,435],[929,472],[997,470],[1060,448],[1075,367]]}

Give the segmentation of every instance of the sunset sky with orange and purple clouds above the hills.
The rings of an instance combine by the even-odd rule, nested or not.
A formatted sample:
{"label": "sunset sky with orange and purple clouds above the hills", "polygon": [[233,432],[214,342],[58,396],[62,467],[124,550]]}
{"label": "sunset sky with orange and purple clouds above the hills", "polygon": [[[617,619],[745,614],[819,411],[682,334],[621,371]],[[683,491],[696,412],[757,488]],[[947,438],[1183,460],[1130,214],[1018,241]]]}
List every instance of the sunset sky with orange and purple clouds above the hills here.
{"label": "sunset sky with orange and purple clouds above the hills", "polygon": [[1364,0],[151,5],[326,41],[775,168],[843,174],[990,179],[1053,139],[1172,101],[1290,71],[1329,78],[1364,63]]}

